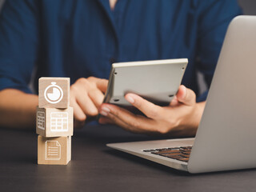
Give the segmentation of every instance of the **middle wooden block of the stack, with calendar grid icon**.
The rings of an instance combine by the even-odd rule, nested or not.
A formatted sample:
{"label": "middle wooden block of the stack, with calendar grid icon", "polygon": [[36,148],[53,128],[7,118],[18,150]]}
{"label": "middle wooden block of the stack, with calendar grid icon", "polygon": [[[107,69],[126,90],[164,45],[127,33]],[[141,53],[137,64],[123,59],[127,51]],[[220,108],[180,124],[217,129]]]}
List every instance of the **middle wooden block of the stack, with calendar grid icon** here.
{"label": "middle wooden block of the stack, with calendar grid icon", "polygon": [[46,138],[73,135],[73,108],[37,108],[36,132]]}

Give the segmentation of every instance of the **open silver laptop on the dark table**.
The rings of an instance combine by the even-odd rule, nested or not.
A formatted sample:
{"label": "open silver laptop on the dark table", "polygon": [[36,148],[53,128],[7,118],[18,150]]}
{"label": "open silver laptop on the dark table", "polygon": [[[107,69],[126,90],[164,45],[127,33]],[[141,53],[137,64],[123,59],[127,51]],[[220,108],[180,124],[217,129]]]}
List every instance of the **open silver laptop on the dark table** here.
{"label": "open silver laptop on the dark table", "polygon": [[256,167],[256,17],[230,22],[195,138],[107,146],[190,173]]}

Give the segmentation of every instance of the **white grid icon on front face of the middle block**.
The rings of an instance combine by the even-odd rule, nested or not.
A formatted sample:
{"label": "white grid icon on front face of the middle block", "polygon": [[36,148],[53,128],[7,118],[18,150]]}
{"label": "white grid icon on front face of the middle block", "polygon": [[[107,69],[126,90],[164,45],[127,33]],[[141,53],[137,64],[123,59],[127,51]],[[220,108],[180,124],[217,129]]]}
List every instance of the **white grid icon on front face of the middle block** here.
{"label": "white grid icon on front face of the middle block", "polygon": [[68,131],[68,113],[52,112],[50,114],[50,130],[53,132]]}

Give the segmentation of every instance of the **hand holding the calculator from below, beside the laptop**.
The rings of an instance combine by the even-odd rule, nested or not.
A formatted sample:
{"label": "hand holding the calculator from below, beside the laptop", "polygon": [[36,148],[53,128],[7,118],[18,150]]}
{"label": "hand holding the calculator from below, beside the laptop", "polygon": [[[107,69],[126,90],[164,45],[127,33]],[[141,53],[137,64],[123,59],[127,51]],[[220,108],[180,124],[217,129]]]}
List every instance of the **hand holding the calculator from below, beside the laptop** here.
{"label": "hand holding the calculator from below, beside the laptop", "polygon": [[126,100],[146,115],[103,103],[99,119],[102,124],[114,123],[125,130],[142,134],[171,134],[172,136],[194,136],[198,128],[205,102],[196,103],[193,90],[180,86],[170,106],[156,106],[137,94],[126,94]]}

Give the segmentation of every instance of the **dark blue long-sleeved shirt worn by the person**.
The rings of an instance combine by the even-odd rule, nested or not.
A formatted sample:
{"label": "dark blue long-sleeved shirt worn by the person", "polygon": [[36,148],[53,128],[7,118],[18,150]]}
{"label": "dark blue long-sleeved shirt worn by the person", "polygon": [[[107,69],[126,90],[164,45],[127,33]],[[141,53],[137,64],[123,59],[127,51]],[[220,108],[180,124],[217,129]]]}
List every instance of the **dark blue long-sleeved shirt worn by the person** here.
{"label": "dark blue long-sleeved shirt worn by the person", "polygon": [[[42,76],[108,78],[111,63],[188,58],[182,84],[210,86],[234,0],[6,1],[0,16],[0,90],[30,93]],[[168,83],[168,82],[164,82]],[[206,94],[198,95],[198,101]]]}

